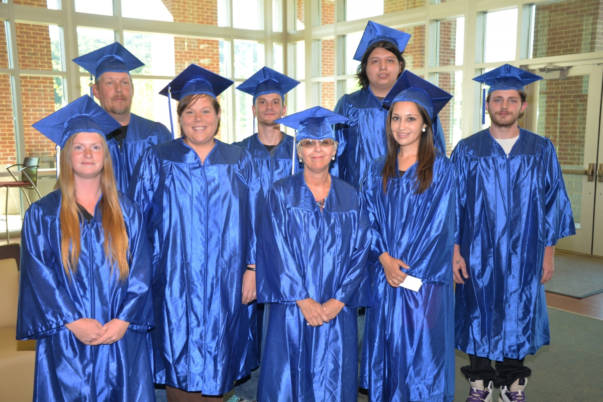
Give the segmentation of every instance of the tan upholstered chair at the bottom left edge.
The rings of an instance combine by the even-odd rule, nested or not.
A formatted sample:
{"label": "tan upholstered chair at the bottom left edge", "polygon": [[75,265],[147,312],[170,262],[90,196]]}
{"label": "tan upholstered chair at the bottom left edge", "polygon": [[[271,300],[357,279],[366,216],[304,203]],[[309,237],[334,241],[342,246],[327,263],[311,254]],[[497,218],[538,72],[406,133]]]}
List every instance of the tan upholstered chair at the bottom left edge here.
{"label": "tan upholstered chair at the bottom left edge", "polygon": [[0,245],[0,402],[31,401],[36,341],[16,341],[19,244]]}

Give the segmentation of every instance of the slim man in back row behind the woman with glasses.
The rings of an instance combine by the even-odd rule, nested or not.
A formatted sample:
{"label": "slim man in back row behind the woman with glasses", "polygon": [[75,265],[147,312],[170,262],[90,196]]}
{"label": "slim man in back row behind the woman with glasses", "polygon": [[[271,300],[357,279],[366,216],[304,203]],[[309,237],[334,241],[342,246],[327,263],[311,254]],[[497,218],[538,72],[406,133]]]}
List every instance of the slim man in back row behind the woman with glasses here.
{"label": "slim man in back row behind the woman with glasses", "polygon": [[[294,89],[298,84],[299,81],[264,67],[236,88],[253,96],[251,113],[253,113],[254,121],[257,119],[257,133],[242,141],[234,142],[233,145],[241,146],[251,154],[260,174],[264,195],[275,181],[300,170],[297,157],[295,159],[293,157],[294,138],[280,131],[280,124],[274,122],[286,114],[285,93]],[[258,306],[255,302],[249,303],[248,309],[250,322],[256,323],[256,325],[250,325],[250,344],[247,356],[250,359],[250,365],[258,367],[264,321],[268,318],[268,309],[265,309],[264,304]],[[235,386],[235,395],[230,398],[229,402],[255,401],[259,374],[258,367],[251,371],[251,377],[239,380]]]}

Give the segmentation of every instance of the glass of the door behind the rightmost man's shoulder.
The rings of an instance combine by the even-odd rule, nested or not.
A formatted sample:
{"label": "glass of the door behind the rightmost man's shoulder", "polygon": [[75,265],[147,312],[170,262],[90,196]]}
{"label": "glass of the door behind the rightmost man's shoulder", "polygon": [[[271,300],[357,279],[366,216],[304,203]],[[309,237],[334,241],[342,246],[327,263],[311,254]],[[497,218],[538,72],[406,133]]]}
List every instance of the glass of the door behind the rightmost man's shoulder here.
{"label": "glass of the door behind the rightmost man's shoulder", "polygon": [[[538,87],[536,132],[555,145],[562,169],[583,169],[589,76],[541,80]],[[583,177],[563,175],[576,229],[581,221]]]}

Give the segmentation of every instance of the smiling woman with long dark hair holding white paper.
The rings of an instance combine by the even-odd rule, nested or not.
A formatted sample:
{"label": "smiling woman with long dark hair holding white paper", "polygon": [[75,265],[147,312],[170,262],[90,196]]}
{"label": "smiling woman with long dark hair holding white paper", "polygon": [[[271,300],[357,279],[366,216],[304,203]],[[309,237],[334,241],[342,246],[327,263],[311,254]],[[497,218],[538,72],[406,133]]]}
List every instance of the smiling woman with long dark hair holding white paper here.
{"label": "smiling woman with long dark hair holding white paper", "polygon": [[452,401],[456,179],[432,121],[452,98],[405,71],[384,103],[387,154],[362,192],[373,225],[362,377],[369,400]]}

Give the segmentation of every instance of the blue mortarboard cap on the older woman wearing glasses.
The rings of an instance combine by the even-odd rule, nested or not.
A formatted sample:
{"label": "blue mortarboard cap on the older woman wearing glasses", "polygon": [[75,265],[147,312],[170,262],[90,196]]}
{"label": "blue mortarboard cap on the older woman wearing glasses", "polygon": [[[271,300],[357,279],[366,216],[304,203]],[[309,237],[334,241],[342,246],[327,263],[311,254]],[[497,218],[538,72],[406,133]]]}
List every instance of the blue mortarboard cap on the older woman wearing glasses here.
{"label": "blue mortarboard cap on the older woman wearing glasses", "polygon": [[297,141],[301,141],[306,139],[324,140],[327,138],[335,140],[335,133],[333,133],[331,126],[347,121],[350,121],[350,119],[324,107],[317,106],[274,122],[297,130],[295,138]]}

